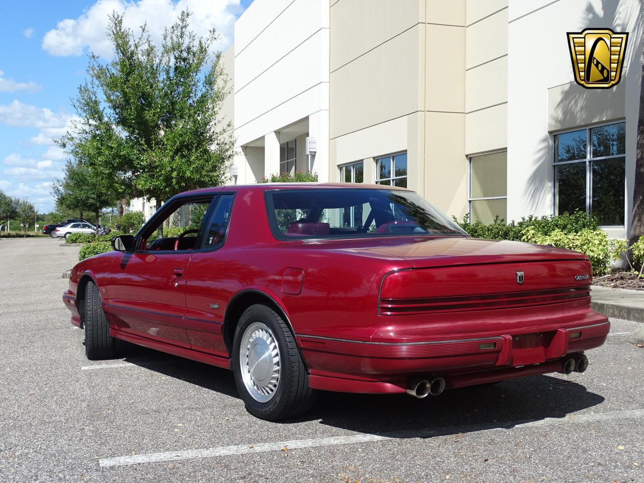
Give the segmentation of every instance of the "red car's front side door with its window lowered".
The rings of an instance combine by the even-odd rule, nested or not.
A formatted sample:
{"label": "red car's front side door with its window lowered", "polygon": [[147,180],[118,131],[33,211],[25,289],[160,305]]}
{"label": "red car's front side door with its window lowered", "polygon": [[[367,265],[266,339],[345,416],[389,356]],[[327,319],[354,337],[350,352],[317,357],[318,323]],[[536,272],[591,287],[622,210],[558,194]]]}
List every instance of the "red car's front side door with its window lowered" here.
{"label": "red car's front side door with its window lowered", "polygon": [[[119,252],[115,257],[106,287],[106,312],[118,330],[167,344],[190,346],[184,327],[185,278],[194,247],[175,250],[176,237],[164,236],[164,231],[177,220],[184,224],[179,226],[182,229],[198,229],[189,224],[192,207],[200,205],[203,216],[213,196],[170,200],[137,233],[138,249]],[[159,228],[162,233],[157,238]],[[184,238],[183,242],[189,241]]]}

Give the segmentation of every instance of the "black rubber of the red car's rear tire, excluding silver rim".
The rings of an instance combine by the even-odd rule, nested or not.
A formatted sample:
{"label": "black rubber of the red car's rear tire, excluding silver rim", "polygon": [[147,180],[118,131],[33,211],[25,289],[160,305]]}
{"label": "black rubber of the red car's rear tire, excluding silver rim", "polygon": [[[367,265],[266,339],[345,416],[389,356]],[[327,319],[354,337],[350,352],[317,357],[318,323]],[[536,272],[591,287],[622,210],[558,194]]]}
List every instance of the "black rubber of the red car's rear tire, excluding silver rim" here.
{"label": "black rubber of the red car's rear tire, excluding silver rim", "polygon": [[[240,346],[247,327],[260,322],[270,328],[280,354],[278,388],[267,403],[256,401],[247,389],[240,365]],[[235,329],[232,349],[232,371],[235,383],[252,415],[266,421],[289,419],[307,412],[314,403],[315,392],[308,387],[308,375],[295,337],[281,316],[266,305],[251,305],[242,314]]]}

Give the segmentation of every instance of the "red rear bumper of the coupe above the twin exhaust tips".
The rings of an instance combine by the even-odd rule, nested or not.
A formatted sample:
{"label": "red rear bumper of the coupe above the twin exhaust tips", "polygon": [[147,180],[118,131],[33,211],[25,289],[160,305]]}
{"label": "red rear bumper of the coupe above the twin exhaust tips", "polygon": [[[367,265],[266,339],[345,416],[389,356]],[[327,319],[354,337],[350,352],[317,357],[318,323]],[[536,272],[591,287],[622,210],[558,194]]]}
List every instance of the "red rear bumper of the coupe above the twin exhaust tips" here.
{"label": "red rear bumper of the coupe above the twin exhaust tips", "polygon": [[312,388],[398,393],[412,376],[444,377],[448,388],[504,381],[561,369],[561,359],[602,345],[611,324],[596,314],[583,325],[544,327],[427,343],[370,343],[298,336]]}

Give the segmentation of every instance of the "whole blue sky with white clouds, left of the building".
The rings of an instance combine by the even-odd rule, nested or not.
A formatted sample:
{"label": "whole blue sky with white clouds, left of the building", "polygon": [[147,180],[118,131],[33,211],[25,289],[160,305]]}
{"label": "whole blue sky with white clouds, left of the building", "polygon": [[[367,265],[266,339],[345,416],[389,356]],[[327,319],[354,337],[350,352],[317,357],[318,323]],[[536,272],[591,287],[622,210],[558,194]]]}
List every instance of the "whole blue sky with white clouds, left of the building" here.
{"label": "whole blue sky with white clouds, left of the building", "polygon": [[41,213],[53,209],[54,178],[64,153],[53,145],[73,119],[70,99],[83,81],[87,54],[109,58],[106,18],[117,10],[136,28],[147,21],[153,39],[188,8],[193,30],[216,28],[218,48],[232,41],[234,20],[252,0],[66,0],[3,3],[0,43],[0,189],[28,196]]}

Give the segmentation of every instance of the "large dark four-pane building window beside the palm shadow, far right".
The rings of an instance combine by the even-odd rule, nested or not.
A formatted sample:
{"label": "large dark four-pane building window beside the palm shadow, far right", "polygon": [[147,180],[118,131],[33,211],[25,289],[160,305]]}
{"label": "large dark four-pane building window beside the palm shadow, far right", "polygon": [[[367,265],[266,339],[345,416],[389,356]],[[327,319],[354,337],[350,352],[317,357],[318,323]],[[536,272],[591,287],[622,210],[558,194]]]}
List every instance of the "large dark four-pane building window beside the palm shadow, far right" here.
{"label": "large dark four-pane building window beside the palm shadow, far right", "polygon": [[554,136],[554,213],[585,211],[601,226],[624,226],[625,131],[617,122]]}

